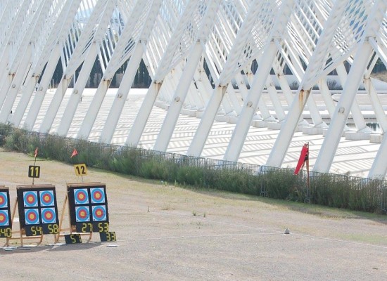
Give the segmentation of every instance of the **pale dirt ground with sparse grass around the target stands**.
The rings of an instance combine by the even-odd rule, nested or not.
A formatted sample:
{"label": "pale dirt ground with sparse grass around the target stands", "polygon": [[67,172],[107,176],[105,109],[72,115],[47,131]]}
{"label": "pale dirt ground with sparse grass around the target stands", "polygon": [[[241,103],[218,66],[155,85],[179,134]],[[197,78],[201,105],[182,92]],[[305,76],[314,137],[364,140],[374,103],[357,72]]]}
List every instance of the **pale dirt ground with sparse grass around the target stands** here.
{"label": "pale dirt ground with sparse grass around the target stands", "polygon": [[[0,185],[13,202],[17,185],[32,184],[34,158],[2,150],[0,157]],[[82,178],[72,165],[39,158],[37,165],[34,184],[56,186],[61,214],[66,184]],[[12,248],[0,248],[1,279],[387,280],[386,215],[189,190],[97,169],[83,181],[106,183],[118,240],[100,242],[96,233],[82,244],[53,244],[53,235],[24,247],[11,240]]]}

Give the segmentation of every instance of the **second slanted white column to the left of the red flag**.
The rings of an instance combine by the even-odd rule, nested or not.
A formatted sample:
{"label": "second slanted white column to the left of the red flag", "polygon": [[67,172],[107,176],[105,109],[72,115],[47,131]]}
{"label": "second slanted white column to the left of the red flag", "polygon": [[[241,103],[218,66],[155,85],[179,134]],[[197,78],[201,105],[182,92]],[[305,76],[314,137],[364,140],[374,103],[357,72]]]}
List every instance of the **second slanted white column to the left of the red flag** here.
{"label": "second slanted white column to the left of the red flag", "polygon": [[246,140],[248,129],[250,128],[251,121],[253,120],[255,111],[258,107],[258,102],[262,96],[262,91],[267,81],[270,69],[277,53],[277,46],[274,41],[269,42],[265,46],[260,60],[258,61],[258,70],[255,72],[253,84],[248,91],[248,96],[243,103],[243,110],[236,123],[234,132],[232,133],[227,150],[224,153],[224,160],[238,161],[239,155],[243,148],[243,143]]}

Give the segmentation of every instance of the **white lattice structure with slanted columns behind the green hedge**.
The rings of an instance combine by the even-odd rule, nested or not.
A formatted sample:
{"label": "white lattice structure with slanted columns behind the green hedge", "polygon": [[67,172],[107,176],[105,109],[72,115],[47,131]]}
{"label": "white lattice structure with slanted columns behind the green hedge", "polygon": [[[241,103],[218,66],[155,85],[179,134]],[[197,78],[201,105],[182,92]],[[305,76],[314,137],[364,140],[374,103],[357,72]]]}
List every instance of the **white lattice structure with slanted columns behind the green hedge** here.
{"label": "white lattice structure with slanted columns behind the green hedge", "polygon": [[[387,65],[386,11],[387,0],[0,0],[0,122],[160,151],[177,151],[179,138],[193,156],[214,156],[226,131],[216,157],[255,153],[250,162],[267,166],[296,162],[309,141],[315,171],[384,177],[387,117],[370,75]],[[96,59],[101,83],[85,89]],[[133,98],[141,60],[153,81]],[[184,133],[182,114],[192,117]],[[362,152],[371,156],[358,162]]]}

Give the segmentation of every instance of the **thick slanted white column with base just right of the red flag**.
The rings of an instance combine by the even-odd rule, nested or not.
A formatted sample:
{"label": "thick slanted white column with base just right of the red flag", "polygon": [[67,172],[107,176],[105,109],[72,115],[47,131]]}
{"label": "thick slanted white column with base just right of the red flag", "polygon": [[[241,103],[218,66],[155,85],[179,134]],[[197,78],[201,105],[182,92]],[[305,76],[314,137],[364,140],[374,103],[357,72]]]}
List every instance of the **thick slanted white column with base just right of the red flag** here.
{"label": "thick slanted white column with base just right of the red flag", "polygon": [[368,42],[364,42],[357,50],[353,65],[348,74],[348,79],[343,88],[343,92],[341,93],[341,98],[338,101],[336,111],[334,112],[331,124],[329,124],[329,129],[326,133],[326,136],[329,136],[329,138],[324,138],[313,171],[323,173],[329,172],[329,168],[331,167],[336,154],[338,143],[340,142],[341,134],[343,133],[345,123],[350,113],[350,108],[353,105],[353,100],[355,100],[357,89],[359,88],[360,81],[362,81],[362,76],[369,63],[371,54],[372,46],[368,44]]}

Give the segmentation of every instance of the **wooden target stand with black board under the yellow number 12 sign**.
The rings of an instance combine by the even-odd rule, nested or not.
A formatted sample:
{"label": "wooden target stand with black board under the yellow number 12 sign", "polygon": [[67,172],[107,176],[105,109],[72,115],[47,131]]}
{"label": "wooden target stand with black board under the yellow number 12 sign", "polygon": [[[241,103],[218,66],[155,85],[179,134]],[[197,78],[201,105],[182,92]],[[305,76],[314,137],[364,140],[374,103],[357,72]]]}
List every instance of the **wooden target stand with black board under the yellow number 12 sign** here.
{"label": "wooden target stand with black board under the yellow number 12 sign", "polygon": [[[98,198],[94,198],[96,195]],[[100,233],[100,237],[101,233],[110,235],[108,232],[107,204],[105,184],[96,182],[68,183],[55,242],[58,242],[60,237],[65,237],[66,244],[82,243],[82,236],[87,236],[87,242],[90,242],[95,232]],[[94,212],[94,208],[105,210],[101,221],[91,220],[91,217],[95,215],[91,214]],[[65,214],[68,215],[67,226],[65,226]],[[113,235],[115,236],[115,233]]]}

